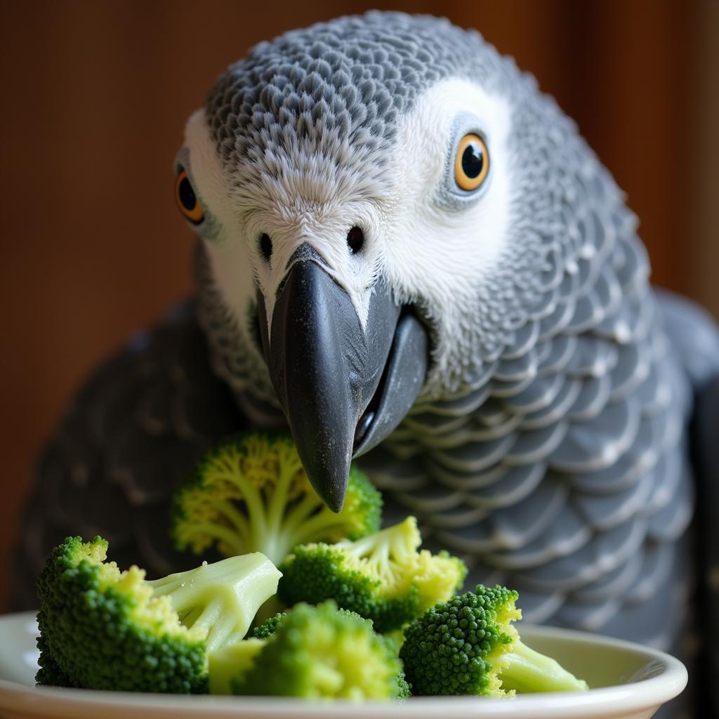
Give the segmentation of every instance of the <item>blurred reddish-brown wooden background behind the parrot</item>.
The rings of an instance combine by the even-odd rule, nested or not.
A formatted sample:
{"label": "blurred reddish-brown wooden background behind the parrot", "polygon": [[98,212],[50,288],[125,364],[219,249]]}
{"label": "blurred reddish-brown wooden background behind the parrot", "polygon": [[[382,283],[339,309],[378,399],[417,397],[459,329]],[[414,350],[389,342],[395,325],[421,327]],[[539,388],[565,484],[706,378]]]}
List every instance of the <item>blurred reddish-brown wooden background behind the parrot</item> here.
{"label": "blurred reddish-brown wooden background behind the parrot", "polygon": [[4,0],[0,577],[73,388],[191,290],[186,117],[250,45],[370,6],[444,14],[531,70],[628,193],[654,280],[719,316],[715,0]]}

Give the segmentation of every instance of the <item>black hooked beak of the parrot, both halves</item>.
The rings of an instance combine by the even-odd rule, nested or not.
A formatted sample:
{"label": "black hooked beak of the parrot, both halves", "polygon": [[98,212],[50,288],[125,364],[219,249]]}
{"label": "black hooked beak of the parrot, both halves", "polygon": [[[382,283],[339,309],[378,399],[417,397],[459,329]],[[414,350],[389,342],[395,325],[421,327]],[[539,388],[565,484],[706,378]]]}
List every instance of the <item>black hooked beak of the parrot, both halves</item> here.
{"label": "black hooked beak of the parrot, both halves", "polygon": [[377,280],[362,328],[347,292],[303,244],[280,286],[268,336],[258,298],[260,335],[275,391],[298,454],[332,510],[344,503],[352,457],[402,421],[422,388],[427,336]]}

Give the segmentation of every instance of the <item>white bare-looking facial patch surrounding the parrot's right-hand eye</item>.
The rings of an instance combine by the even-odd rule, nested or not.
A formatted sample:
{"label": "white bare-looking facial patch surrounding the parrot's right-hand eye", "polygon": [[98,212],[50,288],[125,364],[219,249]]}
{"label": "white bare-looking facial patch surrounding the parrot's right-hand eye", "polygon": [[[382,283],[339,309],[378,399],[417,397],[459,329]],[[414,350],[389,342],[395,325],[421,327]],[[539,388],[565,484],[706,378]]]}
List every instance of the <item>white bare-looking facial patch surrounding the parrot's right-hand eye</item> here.
{"label": "white bare-looking facial patch surrounding the parrot's right-hand eye", "polygon": [[[467,114],[477,118],[484,134],[490,172],[475,201],[448,207],[437,191],[453,151],[455,119]],[[437,308],[477,296],[478,283],[502,252],[510,221],[510,125],[505,99],[459,79],[432,86],[401,124],[384,267],[403,295]]]}

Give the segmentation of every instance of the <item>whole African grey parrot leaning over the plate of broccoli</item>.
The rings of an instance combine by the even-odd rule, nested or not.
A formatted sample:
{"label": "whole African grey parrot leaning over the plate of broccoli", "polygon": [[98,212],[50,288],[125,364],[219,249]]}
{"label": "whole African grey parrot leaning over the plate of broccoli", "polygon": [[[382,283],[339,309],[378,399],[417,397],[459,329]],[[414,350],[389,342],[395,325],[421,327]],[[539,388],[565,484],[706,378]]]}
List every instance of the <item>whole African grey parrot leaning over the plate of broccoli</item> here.
{"label": "whole African grey parrot leaning over the plate of broccoli", "polygon": [[717,491],[719,331],[651,289],[622,193],[530,75],[445,20],[317,24],[221,75],[175,170],[196,299],[75,399],[19,602],[68,533],[157,574],[192,564],[173,487],[211,441],[288,423],[331,508],[359,457],[389,519],[418,516],[527,620],[685,649],[719,559],[718,501],[688,531],[695,395]]}

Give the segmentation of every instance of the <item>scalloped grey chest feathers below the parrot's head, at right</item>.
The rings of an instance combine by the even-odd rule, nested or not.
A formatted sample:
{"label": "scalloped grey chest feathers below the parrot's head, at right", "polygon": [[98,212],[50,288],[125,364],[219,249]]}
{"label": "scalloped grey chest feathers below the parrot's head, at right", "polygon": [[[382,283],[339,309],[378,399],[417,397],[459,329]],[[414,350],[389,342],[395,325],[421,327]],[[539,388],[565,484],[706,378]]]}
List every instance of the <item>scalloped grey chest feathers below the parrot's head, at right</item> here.
{"label": "scalloped grey chest feathers below the parrot's head, at right", "polygon": [[472,580],[517,587],[532,621],[609,633],[670,579],[693,508],[690,388],[627,229],[587,236],[602,242],[564,265],[474,382],[418,403],[366,460]]}

